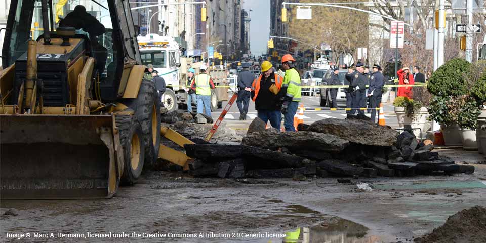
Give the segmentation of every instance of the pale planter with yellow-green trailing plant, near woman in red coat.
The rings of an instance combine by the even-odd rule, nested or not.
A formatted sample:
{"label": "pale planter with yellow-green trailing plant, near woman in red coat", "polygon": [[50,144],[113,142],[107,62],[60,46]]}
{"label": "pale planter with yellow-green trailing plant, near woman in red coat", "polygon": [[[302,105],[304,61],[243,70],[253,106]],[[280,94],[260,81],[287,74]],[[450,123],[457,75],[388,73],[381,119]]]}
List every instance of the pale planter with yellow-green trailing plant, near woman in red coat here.
{"label": "pale planter with yellow-green trailing plant, near woman in red coat", "polygon": [[[393,106],[399,127],[411,125],[416,137],[420,137],[420,132],[428,130],[428,111],[426,107],[423,107],[422,102],[399,96],[393,101]],[[420,128],[420,130],[416,128]]]}

